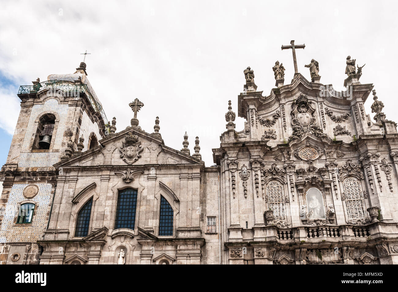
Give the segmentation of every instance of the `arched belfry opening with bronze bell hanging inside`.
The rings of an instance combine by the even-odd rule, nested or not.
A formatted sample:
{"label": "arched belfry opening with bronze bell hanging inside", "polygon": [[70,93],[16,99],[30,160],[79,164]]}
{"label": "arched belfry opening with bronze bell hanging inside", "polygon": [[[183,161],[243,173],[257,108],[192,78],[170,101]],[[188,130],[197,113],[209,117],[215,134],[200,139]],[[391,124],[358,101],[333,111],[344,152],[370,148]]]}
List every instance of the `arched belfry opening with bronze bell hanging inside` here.
{"label": "arched belfry opening with bronze bell hanging inside", "polygon": [[45,114],[41,116],[37,125],[35,139],[33,140],[33,150],[50,149],[54,126],[55,116],[53,114]]}

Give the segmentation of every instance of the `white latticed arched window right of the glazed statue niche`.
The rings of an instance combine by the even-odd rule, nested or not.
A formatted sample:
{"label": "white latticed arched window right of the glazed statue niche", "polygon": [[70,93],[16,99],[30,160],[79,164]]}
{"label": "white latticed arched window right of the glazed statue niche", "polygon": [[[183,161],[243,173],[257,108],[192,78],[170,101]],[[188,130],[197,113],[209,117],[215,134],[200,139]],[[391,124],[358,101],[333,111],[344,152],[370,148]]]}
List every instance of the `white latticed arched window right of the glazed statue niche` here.
{"label": "white latticed arched window right of the glazed statue niche", "polygon": [[349,177],[343,182],[347,220],[367,218],[361,185],[357,178]]}

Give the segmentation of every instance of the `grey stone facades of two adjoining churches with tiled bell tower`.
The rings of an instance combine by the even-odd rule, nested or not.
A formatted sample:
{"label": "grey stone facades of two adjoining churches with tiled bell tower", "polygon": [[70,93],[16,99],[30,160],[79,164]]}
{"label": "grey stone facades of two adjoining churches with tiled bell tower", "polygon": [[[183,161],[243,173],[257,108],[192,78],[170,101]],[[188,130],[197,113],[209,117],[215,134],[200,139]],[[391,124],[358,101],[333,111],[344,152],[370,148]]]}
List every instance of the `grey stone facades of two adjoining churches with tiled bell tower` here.
{"label": "grey stone facades of two adjoining churches with tiled bell tower", "polygon": [[[347,91],[298,73],[257,91],[244,70],[215,166],[139,126],[116,131],[82,62],[21,86],[0,177],[0,264],[397,264],[398,133],[346,60]],[[364,102],[370,95],[374,121]],[[152,132],[152,133],[150,133]]]}

